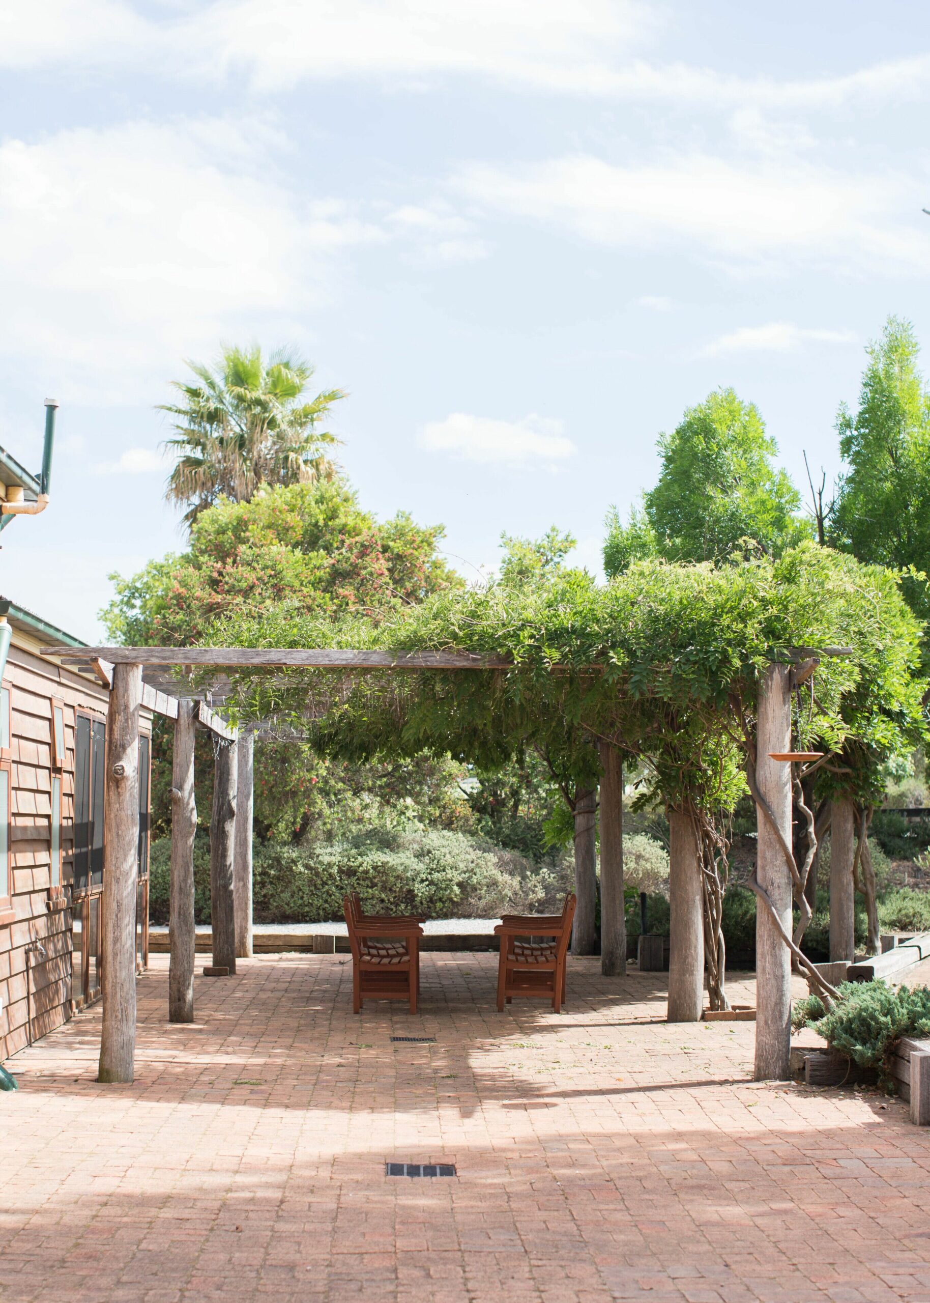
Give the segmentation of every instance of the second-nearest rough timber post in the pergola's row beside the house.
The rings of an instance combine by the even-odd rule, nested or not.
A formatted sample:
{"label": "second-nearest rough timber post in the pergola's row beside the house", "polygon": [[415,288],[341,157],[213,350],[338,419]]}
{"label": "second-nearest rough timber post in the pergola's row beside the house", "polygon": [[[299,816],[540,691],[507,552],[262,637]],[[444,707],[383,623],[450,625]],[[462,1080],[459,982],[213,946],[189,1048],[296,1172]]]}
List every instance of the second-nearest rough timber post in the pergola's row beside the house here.
{"label": "second-nearest rough timber post in the pergola's row beside the house", "polygon": [[171,913],[168,1022],[194,1022],[194,736],[197,702],[178,701],[171,766]]}

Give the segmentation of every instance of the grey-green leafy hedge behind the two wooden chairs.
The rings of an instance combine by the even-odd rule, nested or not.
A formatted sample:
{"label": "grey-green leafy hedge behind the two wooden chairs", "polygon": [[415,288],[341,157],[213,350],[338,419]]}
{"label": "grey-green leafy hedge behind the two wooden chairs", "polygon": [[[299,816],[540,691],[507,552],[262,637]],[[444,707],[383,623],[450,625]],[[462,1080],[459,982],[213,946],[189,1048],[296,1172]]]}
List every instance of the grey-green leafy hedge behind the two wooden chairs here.
{"label": "grey-green leafy hedge behind the two wooden chairs", "polygon": [[[150,913],[168,921],[171,843],[152,844]],[[462,833],[439,829],[346,831],[331,842],[254,851],[257,923],[323,923],[343,917],[343,898],[358,891],[366,909],[432,919],[496,917],[548,908],[569,889],[563,872]],[[194,847],[194,911],[210,923],[210,839]]]}

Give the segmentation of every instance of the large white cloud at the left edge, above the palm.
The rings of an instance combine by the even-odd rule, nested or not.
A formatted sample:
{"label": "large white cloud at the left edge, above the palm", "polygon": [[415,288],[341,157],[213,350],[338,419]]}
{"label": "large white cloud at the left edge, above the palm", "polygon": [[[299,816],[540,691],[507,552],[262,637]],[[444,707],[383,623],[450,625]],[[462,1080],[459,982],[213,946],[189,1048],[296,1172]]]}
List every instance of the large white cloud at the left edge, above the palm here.
{"label": "large white cloud at the left edge, above the palm", "polygon": [[175,120],[0,145],[0,349],[48,358],[68,401],[139,387],[218,339],[280,330],[331,292],[346,246],[384,238],[307,205],[261,124]]}

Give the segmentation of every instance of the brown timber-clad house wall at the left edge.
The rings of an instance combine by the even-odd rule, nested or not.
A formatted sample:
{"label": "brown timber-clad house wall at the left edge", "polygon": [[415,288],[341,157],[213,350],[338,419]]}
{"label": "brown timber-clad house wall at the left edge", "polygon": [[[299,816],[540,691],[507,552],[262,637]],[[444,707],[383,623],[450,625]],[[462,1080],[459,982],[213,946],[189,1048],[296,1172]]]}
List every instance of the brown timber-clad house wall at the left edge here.
{"label": "brown timber-clad house wall at the left edge", "polygon": [[[18,645],[17,645],[18,644]],[[23,646],[23,644],[26,644]],[[74,745],[78,709],[106,717],[108,692],[29,650],[13,632],[3,687],[10,691],[10,893],[14,921],[0,926],[0,1061],[27,1044],[26,946],[39,941],[46,958],[31,962],[33,1038],[70,1016],[72,913],[48,909],[51,886],[52,698],[64,704],[61,770],[63,878],[74,839]]]}

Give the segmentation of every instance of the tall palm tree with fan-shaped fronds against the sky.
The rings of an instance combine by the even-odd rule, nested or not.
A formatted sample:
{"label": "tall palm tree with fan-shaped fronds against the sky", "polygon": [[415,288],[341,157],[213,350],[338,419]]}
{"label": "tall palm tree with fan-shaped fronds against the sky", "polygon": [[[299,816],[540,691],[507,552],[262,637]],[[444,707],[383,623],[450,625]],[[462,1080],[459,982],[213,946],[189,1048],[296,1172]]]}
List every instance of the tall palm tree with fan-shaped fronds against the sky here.
{"label": "tall palm tree with fan-shaped fronds against the sky", "polygon": [[175,421],[177,453],[165,498],[189,507],[191,525],[218,498],[246,502],[259,485],[293,485],[332,478],[335,463],[323,450],[340,440],[317,429],[343,390],[301,401],[314,367],[277,349],[266,361],[257,345],[224,347],[216,366],[188,362],[199,384],[175,380],[180,405],[162,404]]}

